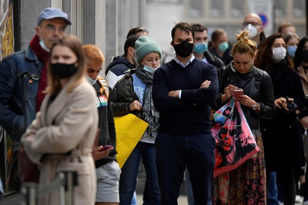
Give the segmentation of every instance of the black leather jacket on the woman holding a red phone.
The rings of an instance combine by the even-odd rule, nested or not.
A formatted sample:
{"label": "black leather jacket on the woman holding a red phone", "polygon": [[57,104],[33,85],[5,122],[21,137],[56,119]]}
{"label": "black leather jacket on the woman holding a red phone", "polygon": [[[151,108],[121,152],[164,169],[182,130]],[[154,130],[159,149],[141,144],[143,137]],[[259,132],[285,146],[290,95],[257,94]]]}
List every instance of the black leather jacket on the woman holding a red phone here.
{"label": "black leather jacket on the woman holding a red phone", "polygon": [[[252,130],[260,129],[259,118],[272,119],[275,115],[274,92],[272,80],[269,75],[256,67],[245,74],[240,74],[232,69],[229,63],[226,67],[218,69],[219,93],[213,109],[218,110],[224,103],[221,96],[224,94],[224,88],[232,84],[242,88],[244,95],[248,95],[261,106],[261,113],[256,114],[251,108],[241,105],[249,127]],[[226,103],[226,102],[225,102]]]}

